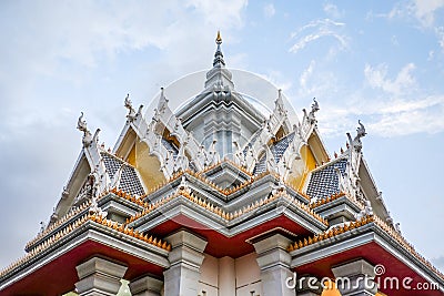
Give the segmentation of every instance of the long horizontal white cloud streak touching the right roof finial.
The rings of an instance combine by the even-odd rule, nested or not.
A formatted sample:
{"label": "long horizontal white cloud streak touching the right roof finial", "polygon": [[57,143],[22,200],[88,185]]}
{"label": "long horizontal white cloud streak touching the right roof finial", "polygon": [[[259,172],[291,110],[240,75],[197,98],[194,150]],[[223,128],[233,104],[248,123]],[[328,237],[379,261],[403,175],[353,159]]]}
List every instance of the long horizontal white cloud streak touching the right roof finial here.
{"label": "long horizontal white cloud streak touching the right roof finial", "polygon": [[355,129],[357,119],[370,133],[384,137],[444,131],[444,95],[386,101],[361,98],[360,101],[344,105],[324,105],[321,101],[322,110],[329,110],[320,113],[321,131],[326,136],[342,135]]}

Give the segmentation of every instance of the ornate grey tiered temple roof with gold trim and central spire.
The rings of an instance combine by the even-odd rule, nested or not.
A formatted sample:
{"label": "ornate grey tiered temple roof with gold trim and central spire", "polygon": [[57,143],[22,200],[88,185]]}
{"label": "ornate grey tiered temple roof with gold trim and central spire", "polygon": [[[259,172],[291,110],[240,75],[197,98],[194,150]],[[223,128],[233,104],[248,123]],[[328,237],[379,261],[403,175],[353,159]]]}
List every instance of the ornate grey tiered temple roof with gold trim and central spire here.
{"label": "ornate grey tiered temple roof with gold trim and central spire", "polygon": [[[150,262],[157,267],[147,268],[161,274],[171,249],[164,237],[182,227],[205,237],[209,254],[234,257],[253,252],[250,241],[266,232],[302,237],[289,246],[292,256],[373,232],[382,238],[366,244],[377,245],[379,254],[389,256],[392,249],[384,247],[390,243],[417,259],[414,268],[411,262],[400,263],[402,268],[428,268],[433,278],[444,279],[393,226],[364,161],[364,125],[360,122],[356,136],[347,134],[346,151],[330,160],[317,131],[317,102],[310,112],[304,110],[301,122],[290,122],[279,91],[274,110],[265,118],[235,92],[219,33],[216,44],[204,91],[191,101],[190,109],[174,113],[162,89],[148,121],[142,106],[135,111],[125,98],[129,113],[112,153],[98,144],[99,131],[92,135],[81,115],[78,129],[83,132],[83,147],[63,195],[49,225],[27,244],[28,254],[0,273],[0,288],[31,264],[44,267],[46,256],[63,253],[63,244],[84,233],[85,241],[95,237],[94,247],[111,256],[121,258],[130,248],[157,255],[158,261]],[[229,120],[204,121],[206,113],[200,104],[205,112],[211,108],[219,112],[224,105],[239,116],[231,125]],[[198,125],[201,131],[214,131],[212,141],[193,134]],[[249,136],[232,139],[233,133],[226,133],[216,139],[218,132],[232,132],[233,126]],[[232,143],[218,146],[218,141],[226,139]],[[221,147],[228,145],[233,153],[223,155]],[[394,243],[389,242],[392,238]],[[107,239],[124,245],[114,252]],[[362,252],[365,244],[354,247]],[[309,263],[293,262],[294,269],[310,269]]]}

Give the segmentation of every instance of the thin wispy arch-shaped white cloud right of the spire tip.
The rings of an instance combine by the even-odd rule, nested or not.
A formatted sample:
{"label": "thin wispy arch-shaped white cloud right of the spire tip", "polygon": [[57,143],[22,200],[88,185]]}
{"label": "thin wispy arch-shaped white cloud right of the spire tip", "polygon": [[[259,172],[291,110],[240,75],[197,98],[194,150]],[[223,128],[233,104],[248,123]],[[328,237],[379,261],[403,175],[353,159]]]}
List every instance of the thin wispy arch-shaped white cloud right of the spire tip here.
{"label": "thin wispy arch-shaped white cloud right of the spire tip", "polygon": [[291,39],[297,38],[297,40],[290,48],[289,52],[297,53],[297,51],[304,49],[309,43],[324,37],[335,39],[341,49],[347,48],[347,37],[339,32],[343,27],[345,27],[345,23],[335,22],[330,19],[311,21],[291,34]]}

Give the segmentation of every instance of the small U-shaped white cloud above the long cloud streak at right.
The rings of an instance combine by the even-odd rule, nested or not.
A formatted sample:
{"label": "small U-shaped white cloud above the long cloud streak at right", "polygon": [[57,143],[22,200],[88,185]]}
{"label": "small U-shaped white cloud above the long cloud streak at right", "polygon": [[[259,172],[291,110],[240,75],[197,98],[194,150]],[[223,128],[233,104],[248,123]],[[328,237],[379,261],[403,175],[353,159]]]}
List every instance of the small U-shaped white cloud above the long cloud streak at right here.
{"label": "small U-shaped white cloud above the long cloud streak at right", "polygon": [[381,89],[390,94],[398,95],[403,92],[411,92],[415,88],[416,81],[412,76],[412,71],[415,69],[413,63],[406,64],[397,73],[394,80],[386,78],[387,65],[380,64],[373,68],[370,64],[365,65],[364,74],[366,82],[374,89]]}

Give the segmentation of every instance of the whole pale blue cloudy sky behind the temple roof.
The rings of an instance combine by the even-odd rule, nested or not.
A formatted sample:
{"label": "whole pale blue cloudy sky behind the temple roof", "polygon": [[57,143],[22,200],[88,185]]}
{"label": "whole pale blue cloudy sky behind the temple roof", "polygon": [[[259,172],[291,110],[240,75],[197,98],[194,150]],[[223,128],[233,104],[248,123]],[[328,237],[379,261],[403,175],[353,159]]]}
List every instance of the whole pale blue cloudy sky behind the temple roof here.
{"label": "whole pale blue cloudy sky behind the temple roof", "polygon": [[148,105],[209,69],[221,30],[230,68],[269,79],[299,113],[317,98],[332,154],[364,122],[389,210],[444,271],[444,0],[14,0],[0,2],[0,267],[52,213],[81,150],[80,112],[112,146],[127,93]]}

